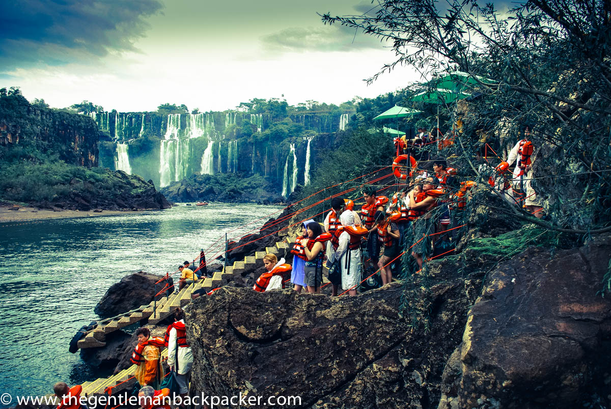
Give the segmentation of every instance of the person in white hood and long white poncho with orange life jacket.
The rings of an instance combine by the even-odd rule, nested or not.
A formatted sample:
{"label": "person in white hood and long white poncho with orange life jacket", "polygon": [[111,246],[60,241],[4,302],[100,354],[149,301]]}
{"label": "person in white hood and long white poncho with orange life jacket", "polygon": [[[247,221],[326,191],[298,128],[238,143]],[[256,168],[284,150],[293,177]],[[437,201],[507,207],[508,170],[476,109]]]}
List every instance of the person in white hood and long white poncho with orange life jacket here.
{"label": "person in white hood and long white poncho with orange life jacket", "polygon": [[361,274],[360,240],[368,233],[362,226],[354,223],[354,213],[346,210],[340,216],[343,231],[339,236],[335,259],[342,273],[342,288],[348,290],[348,295],[356,295]]}

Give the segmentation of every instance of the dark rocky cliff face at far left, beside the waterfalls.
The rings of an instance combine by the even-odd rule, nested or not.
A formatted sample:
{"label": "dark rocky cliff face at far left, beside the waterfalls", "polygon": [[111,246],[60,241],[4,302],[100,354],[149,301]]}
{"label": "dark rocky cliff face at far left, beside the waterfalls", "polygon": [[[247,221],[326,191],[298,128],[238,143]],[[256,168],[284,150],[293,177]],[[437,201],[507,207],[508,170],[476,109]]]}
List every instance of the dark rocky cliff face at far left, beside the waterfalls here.
{"label": "dark rocky cliff face at far left, beside the waterfalls", "polygon": [[98,127],[89,117],[30,105],[20,94],[0,98],[0,145],[54,154],[69,164],[98,165]]}

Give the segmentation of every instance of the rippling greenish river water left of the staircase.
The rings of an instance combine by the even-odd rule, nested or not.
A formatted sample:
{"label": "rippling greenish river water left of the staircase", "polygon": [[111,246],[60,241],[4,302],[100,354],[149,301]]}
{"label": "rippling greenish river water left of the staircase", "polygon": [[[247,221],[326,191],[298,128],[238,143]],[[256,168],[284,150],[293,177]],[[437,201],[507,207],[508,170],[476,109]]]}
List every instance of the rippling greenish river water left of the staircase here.
{"label": "rippling greenish river water left of the staircase", "polygon": [[68,352],[68,343],[97,319],[93,308],[108,287],[139,270],[174,271],[219,238],[224,246],[225,232],[237,241],[258,231],[280,208],[212,203],[0,224],[0,393],[43,395],[57,381],[97,378],[78,353]]}

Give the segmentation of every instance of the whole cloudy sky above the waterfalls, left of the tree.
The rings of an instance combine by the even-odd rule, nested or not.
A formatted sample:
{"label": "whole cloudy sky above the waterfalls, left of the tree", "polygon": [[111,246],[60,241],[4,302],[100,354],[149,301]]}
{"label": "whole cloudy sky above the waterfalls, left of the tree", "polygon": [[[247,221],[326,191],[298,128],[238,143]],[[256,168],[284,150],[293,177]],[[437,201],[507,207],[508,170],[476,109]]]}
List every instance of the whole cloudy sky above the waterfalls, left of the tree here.
{"label": "whole cloudy sky above the waterfalls, left of the tree", "polygon": [[341,103],[419,79],[409,68],[362,81],[393,51],[324,26],[363,0],[0,1],[0,87],[64,107],[153,111],[161,103],[223,110],[251,98]]}

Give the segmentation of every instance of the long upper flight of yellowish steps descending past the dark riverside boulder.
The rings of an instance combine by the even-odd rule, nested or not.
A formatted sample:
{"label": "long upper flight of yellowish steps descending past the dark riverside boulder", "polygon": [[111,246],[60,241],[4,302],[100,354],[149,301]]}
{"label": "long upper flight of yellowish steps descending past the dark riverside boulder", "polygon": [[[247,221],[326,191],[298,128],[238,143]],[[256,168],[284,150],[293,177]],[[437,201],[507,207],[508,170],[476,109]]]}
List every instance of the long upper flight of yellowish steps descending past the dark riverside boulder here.
{"label": "long upper flight of yellowish steps descending past the dark riverside boulder", "polygon": [[[169,297],[157,300],[156,308],[155,304],[151,302],[150,304],[141,306],[136,309],[136,311],[120,317],[115,317],[115,319],[109,322],[98,325],[93,330],[88,331],[86,336],[78,341],[78,347],[104,347],[104,345],[106,345],[106,335],[114,331],[147,319],[148,323],[153,325],[163,321],[175,308],[184,307],[186,304],[189,304],[191,302],[191,295],[194,291],[199,289],[211,291],[233,281],[234,276],[241,276],[244,271],[262,267],[263,257],[266,252],[276,254],[279,259],[280,257],[285,257],[289,246],[292,246],[292,243],[295,242],[295,238],[288,237],[287,240],[289,243],[288,245],[284,241],[278,241],[275,246],[266,247],[265,251],[255,252],[255,256],[246,256],[243,260],[234,262],[233,266],[227,266],[223,271],[217,271],[212,278],[199,279],[194,282],[194,284],[184,287],[178,294],[172,293]],[[155,310],[154,314],[153,310]]]}

